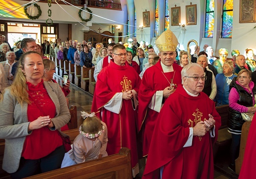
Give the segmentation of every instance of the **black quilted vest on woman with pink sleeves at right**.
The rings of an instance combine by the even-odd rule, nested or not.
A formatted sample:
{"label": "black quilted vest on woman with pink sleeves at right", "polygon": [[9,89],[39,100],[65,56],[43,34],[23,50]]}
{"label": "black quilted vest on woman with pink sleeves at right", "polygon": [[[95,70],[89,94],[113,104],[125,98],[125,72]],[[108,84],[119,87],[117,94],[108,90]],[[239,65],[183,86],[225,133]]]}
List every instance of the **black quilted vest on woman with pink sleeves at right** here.
{"label": "black quilted vest on woman with pink sleeves at right", "polygon": [[[256,94],[256,87],[254,85],[252,94],[249,94],[246,90],[244,90],[243,87],[241,87],[239,84],[236,84],[237,77],[233,78],[232,82],[230,83],[230,90],[231,88],[236,88],[236,91],[239,94],[239,100],[237,101],[238,104],[251,107],[253,106],[253,97],[252,95]],[[241,113],[233,110],[231,107],[229,108],[229,120],[227,123],[227,127],[229,127],[231,130],[239,130],[241,131],[242,125],[244,124],[244,120],[241,116]]]}

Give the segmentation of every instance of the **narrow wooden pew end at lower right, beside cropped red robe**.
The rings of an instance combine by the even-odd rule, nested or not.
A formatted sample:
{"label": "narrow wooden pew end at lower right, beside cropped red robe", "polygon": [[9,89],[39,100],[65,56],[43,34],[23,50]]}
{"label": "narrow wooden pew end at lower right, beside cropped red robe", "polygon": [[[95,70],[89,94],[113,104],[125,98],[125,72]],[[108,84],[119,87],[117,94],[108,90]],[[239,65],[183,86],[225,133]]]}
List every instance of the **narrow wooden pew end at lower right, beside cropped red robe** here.
{"label": "narrow wooden pew end at lower right, beside cropped red robe", "polygon": [[242,126],[242,132],[241,132],[241,141],[240,141],[240,150],[239,150],[239,157],[236,159],[236,173],[239,175],[242,163],[244,160],[244,151],[246,146],[246,141],[250,129],[251,121],[244,122]]}

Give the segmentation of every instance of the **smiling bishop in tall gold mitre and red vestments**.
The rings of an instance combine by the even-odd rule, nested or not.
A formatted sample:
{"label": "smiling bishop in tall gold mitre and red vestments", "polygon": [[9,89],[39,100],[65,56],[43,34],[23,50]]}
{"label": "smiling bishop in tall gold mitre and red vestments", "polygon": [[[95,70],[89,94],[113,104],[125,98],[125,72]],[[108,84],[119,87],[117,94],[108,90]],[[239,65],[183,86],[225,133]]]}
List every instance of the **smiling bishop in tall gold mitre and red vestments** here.
{"label": "smiling bishop in tall gold mitre and red vestments", "polygon": [[143,156],[148,149],[154,131],[155,122],[164,101],[181,84],[182,67],[173,64],[178,43],[175,35],[167,29],[155,41],[160,60],[146,69],[139,92],[138,130],[143,138]]}

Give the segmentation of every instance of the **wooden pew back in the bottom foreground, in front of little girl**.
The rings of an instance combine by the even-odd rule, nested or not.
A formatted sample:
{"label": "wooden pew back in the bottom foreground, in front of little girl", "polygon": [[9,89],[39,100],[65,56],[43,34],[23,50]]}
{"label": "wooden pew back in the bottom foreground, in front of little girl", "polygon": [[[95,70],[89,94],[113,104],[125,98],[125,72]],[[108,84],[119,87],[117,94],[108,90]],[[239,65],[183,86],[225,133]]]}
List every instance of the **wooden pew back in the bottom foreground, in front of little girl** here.
{"label": "wooden pew back in the bottom foreground, in front of little girl", "polygon": [[132,179],[131,150],[123,147],[118,154],[30,176],[27,179],[32,178]]}

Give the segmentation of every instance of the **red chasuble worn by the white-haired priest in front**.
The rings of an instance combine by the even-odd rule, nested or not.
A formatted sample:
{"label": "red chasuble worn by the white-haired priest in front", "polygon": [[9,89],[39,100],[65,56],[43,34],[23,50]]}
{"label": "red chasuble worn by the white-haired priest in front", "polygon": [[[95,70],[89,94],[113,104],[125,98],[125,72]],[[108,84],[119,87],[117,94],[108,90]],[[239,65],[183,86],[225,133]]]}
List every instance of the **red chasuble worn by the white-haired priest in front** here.
{"label": "red chasuble worn by the white-haired priest in front", "polygon": [[[215,138],[193,136],[192,146],[183,147],[189,137],[189,127],[197,122],[215,120]],[[163,179],[213,179],[212,141],[218,138],[221,117],[214,102],[201,92],[190,96],[182,85],[163,105],[151,140],[143,179],[159,177],[163,166]]]}

